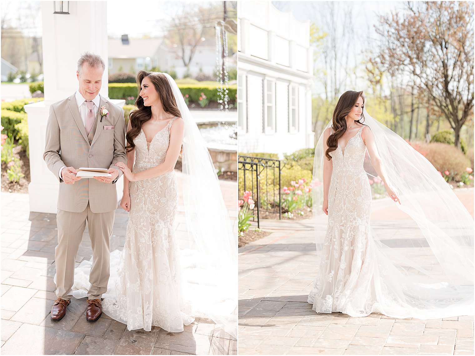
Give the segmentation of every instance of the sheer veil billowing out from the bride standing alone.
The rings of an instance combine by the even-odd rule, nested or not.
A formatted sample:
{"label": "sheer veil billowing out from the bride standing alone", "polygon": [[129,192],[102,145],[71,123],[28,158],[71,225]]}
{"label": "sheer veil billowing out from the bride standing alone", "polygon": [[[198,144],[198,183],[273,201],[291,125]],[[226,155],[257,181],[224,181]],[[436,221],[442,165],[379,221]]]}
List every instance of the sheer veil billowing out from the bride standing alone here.
{"label": "sheer veil billowing out from the bride standing alone", "polygon": [[[372,227],[377,252],[390,260],[413,292],[411,316],[444,318],[473,315],[474,301],[474,220],[440,173],[399,135],[363,112],[365,125],[375,137],[382,164],[391,185],[399,192],[396,204],[405,216],[404,224],[393,236]],[[332,125],[332,121],[325,129]],[[321,255],[323,226],[323,133],[315,147],[313,172],[313,212],[316,248]],[[365,171],[377,175],[366,153]],[[386,192],[384,192],[386,194]],[[412,220],[411,220],[412,219]],[[387,221],[393,220],[388,216]],[[398,221],[394,220],[395,224]],[[408,227],[408,229],[406,229]],[[375,231],[378,230],[378,231]],[[416,295],[419,287],[427,295]],[[417,301],[416,301],[417,299]]]}

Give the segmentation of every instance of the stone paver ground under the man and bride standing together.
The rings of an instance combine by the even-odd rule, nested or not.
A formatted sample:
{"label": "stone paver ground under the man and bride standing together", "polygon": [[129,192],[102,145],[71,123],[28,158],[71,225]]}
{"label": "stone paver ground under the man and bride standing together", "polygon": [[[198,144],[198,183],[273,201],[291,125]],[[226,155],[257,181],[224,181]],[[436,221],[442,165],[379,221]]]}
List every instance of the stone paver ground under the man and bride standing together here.
{"label": "stone paver ground under the man and bride standing together", "polygon": [[[180,173],[178,174],[180,178]],[[234,231],[237,184],[220,181]],[[105,314],[85,319],[86,298],[71,300],[66,316],[53,322],[49,313],[56,286],[54,252],[56,214],[29,212],[28,194],[1,193],[1,353],[3,355],[236,355],[237,340],[198,318],[181,333],[160,327],[127,331]],[[122,250],[128,213],[117,209],[111,250]],[[176,236],[185,234],[179,208]],[[87,227],[76,265],[92,256]]]}

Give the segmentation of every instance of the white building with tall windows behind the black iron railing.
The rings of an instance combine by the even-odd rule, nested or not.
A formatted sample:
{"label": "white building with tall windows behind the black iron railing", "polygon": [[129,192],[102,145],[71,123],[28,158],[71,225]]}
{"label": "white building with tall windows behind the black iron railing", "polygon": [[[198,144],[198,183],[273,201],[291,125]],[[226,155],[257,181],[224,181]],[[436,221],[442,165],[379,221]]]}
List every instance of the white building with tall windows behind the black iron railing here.
{"label": "white building with tall windows behind the black iron railing", "polygon": [[310,22],[270,1],[237,6],[239,152],[313,147]]}

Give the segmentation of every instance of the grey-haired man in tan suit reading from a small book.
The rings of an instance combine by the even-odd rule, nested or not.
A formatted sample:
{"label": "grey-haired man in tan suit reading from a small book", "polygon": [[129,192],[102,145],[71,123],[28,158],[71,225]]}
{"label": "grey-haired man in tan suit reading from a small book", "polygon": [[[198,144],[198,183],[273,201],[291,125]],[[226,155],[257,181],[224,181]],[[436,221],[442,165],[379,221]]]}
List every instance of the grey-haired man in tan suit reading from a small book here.
{"label": "grey-haired man in tan suit reading from a small book", "polygon": [[[107,290],[109,239],[117,208],[113,184],[123,174],[114,164],[126,164],[127,157],[123,109],[99,95],[104,69],[102,58],[85,53],[77,62],[78,90],[49,110],[43,159],[60,182],[55,250],[57,299],[51,308],[53,320],[66,315],[72,297],[75,260],[86,220],[93,250],[91,287],[87,292],[88,320],[101,316],[101,297]],[[108,115],[103,115],[104,109]],[[82,179],[76,177],[79,167],[109,167],[112,176]]]}

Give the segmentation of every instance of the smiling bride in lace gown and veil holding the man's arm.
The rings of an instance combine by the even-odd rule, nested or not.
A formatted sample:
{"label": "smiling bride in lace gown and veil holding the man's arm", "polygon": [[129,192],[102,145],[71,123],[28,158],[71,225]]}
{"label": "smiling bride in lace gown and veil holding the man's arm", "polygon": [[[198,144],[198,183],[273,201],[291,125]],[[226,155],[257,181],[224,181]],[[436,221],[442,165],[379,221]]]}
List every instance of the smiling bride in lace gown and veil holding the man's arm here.
{"label": "smiling bride in lace gown and veil holding the man's arm", "polygon": [[[130,115],[121,207],[129,212],[122,253],[111,253],[103,311],[129,330],[183,331],[195,317],[237,334],[236,240],[214,166],[173,79],[140,71],[138,110]],[[188,242],[174,236],[182,152]],[[180,258],[181,257],[181,258]],[[181,263],[180,263],[181,262]],[[88,264],[76,269],[73,295],[87,290]]]}

